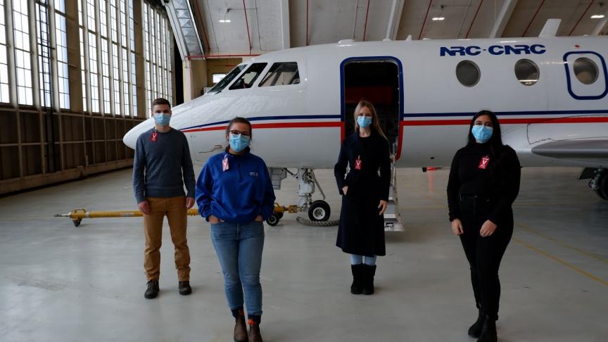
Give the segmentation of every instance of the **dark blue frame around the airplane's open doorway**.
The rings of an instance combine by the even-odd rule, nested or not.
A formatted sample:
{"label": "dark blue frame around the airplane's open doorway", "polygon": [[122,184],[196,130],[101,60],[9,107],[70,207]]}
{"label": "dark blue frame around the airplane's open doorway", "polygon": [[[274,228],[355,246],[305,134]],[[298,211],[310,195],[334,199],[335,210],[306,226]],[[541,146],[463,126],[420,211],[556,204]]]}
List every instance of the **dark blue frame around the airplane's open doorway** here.
{"label": "dark blue frame around the airplane's open doorway", "polygon": [[398,160],[401,156],[401,145],[403,144],[403,113],[405,113],[405,103],[403,103],[404,89],[403,89],[403,65],[399,58],[393,56],[362,56],[362,57],[349,57],[340,63],[340,121],[341,121],[341,139],[345,138],[345,126],[346,126],[346,99],[345,99],[345,82],[344,82],[344,67],[346,63],[353,61],[392,61],[397,65],[398,70],[398,82],[399,82],[399,104],[398,104],[398,137],[397,137],[397,152],[395,153],[395,160]]}

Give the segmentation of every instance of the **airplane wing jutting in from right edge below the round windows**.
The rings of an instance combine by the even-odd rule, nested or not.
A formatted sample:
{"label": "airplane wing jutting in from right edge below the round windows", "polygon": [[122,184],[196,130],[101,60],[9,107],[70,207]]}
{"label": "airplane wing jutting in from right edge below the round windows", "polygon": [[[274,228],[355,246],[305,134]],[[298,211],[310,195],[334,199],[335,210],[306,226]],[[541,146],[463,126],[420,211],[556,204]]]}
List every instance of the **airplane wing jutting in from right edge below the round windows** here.
{"label": "airplane wing jutting in from right edge below the round windows", "polygon": [[608,160],[608,139],[551,141],[534,146],[532,153],[558,159]]}

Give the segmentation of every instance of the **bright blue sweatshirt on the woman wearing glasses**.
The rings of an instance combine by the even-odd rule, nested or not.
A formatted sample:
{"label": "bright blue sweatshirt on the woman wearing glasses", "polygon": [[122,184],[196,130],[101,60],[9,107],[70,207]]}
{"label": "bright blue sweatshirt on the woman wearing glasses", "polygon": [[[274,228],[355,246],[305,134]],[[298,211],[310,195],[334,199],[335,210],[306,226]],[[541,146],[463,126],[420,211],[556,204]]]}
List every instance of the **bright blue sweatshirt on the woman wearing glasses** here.
{"label": "bright blue sweatshirt on the woman wearing glasses", "polygon": [[[224,158],[228,170],[224,171]],[[247,223],[274,211],[274,189],[264,160],[247,148],[241,156],[223,152],[212,156],[196,182],[198,213],[232,223]]]}

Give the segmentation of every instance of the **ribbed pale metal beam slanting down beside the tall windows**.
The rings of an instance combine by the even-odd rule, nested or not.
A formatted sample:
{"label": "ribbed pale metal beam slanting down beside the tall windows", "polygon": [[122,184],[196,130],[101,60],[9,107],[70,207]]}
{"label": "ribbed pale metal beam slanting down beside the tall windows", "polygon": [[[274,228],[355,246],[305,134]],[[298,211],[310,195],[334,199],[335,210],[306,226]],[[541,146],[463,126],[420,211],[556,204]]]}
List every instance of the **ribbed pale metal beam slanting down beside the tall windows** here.
{"label": "ribbed pale metal beam slanting down beside the tall windows", "polygon": [[163,1],[169,16],[169,23],[177,42],[182,61],[186,56],[203,56],[203,45],[194,23],[194,15],[188,0]]}

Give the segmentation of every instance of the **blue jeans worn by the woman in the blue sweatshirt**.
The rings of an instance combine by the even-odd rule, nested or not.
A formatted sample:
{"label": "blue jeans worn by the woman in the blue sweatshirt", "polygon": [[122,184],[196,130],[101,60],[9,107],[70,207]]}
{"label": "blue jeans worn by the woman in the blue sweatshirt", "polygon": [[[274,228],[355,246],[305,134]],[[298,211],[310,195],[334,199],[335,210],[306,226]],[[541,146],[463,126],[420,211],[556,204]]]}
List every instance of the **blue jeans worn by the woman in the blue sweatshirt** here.
{"label": "blue jeans worn by the woman in the blue sweatshirt", "polygon": [[243,308],[244,290],[247,314],[250,319],[255,316],[259,320],[262,315],[260,267],[264,224],[255,221],[211,224],[211,242],[224,273],[224,291],[230,310]]}

